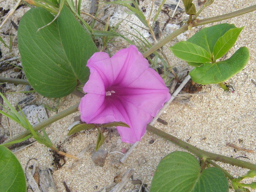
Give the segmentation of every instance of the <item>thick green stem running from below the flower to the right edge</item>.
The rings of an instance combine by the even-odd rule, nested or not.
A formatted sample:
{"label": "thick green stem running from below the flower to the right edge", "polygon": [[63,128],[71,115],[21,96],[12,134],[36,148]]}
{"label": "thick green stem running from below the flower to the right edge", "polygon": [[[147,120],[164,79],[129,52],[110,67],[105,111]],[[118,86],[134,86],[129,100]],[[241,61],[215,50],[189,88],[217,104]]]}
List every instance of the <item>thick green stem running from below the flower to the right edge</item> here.
{"label": "thick green stem running from below the flower to the right edge", "polygon": [[221,162],[224,162],[224,163],[237,165],[239,167],[256,170],[256,164],[241,161],[241,160],[237,160],[237,159],[232,158],[232,157],[226,157],[224,155],[218,155],[218,154],[215,154],[215,153],[206,152],[202,149],[194,147],[194,146],[190,145],[189,143],[186,143],[186,142],[176,138],[173,135],[170,135],[166,132],[163,132],[163,131],[161,131],[161,130],[159,130],[159,129],[151,126],[151,125],[147,125],[147,131],[150,131],[150,132],[152,132],[156,135],[161,136],[162,138],[164,138],[168,141],[171,141],[175,145],[178,145],[178,146],[196,154],[200,158],[207,158],[207,159],[210,159],[210,160],[221,161]]}

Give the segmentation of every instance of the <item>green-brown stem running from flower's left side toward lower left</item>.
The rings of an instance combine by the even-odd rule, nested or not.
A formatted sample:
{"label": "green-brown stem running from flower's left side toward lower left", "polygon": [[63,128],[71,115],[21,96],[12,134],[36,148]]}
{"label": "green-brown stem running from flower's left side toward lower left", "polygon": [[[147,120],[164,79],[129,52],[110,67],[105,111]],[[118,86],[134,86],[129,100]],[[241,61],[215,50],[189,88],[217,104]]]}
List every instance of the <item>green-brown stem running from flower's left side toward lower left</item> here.
{"label": "green-brown stem running from flower's left side toward lower left", "polygon": [[[54,115],[54,116],[52,116],[52,117],[50,117],[50,118],[48,118],[48,119],[42,121],[41,123],[35,125],[35,126],[33,127],[34,131],[39,131],[39,130],[41,130],[42,128],[44,128],[44,127],[46,127],[46,126],[48,126],[48,125],[54,123],[55,121],[60,120],[60,119],[62,119],[62,118],[64,118],[64,117],[66,117],[66,116],[68,116],[68,115],[70,115],[70,114],[72,114],[72,113],[78,111],[78,105],[79,105],[79,103],[76,103],[76,104],[73,105],[72,107],[70,107],[70,108],[68,108],[68,109],[66,109],[66,110],[64,110],[64,111],[61,111],[61,112],[57,113],[56,115]],[[22,138],[28,136],[29,134],[31,134],[29,130],[24,131],[23,133],[21,133],[21,134],[15,136],[14,138],[10,139],[9,141],[6,141],[5,143],[22,139]],[[6,145],[6,147],[9,147],[9,146],[12,146],[12,144]]]}

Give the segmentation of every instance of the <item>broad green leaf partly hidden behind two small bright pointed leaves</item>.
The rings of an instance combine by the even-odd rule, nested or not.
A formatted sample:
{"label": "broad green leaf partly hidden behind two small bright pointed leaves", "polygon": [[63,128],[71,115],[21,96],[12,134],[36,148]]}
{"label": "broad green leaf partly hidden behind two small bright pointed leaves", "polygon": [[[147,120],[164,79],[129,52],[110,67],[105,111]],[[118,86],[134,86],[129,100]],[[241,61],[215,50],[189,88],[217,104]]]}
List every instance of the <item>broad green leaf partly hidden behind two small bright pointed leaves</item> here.
{"label": "broad green leaf partly hidden behind two small bright pointed leaves", "polygon": [[214,45],[217,40],[229,29],[235,28],[234,24],[222,23],[201,29],[187,41],[203,47],[207,52],[213,55]]}

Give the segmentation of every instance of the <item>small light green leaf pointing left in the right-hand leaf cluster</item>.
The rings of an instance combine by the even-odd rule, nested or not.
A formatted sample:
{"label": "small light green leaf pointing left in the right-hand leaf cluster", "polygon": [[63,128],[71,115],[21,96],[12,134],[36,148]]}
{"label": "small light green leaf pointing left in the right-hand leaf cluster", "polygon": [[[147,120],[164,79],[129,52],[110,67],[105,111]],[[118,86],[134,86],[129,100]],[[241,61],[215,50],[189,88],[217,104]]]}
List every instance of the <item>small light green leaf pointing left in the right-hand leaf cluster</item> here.
{"label": "small light green leaf pointing left in the right-hand leaf cluster", "polygon": [[173,54],[189,62],[210,62],[210,54],[203,48],[188,41],[181,41],[169,48]]}

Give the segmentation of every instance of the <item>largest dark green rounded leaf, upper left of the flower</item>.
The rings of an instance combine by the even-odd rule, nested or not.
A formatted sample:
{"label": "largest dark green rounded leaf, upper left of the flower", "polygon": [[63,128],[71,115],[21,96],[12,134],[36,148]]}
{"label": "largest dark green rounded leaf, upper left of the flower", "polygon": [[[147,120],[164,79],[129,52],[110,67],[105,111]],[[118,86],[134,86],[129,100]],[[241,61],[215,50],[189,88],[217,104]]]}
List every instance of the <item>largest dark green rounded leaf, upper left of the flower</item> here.
{"label": "largest dark green rounded leaf, upper left of the flower", "polygon": [[37,32],[53,19],[43,8],[25,13],[18,29],[19,51],[31,86],[43,96],[63,97],[78,80],[88,80],[86,63],[97,48],[66,6],[52,24]]}

